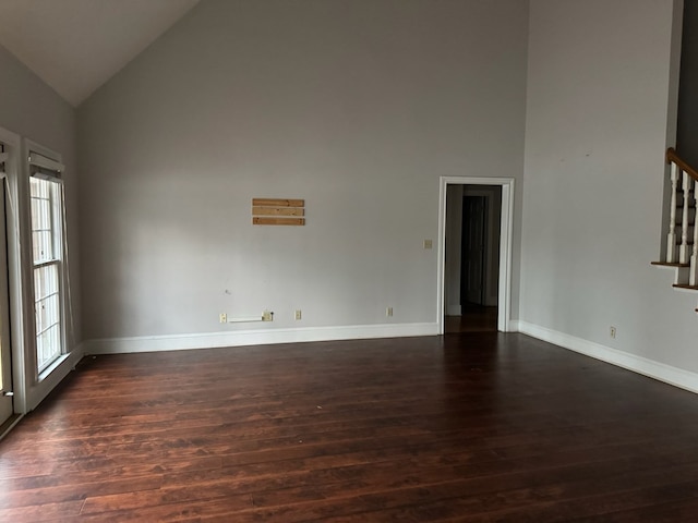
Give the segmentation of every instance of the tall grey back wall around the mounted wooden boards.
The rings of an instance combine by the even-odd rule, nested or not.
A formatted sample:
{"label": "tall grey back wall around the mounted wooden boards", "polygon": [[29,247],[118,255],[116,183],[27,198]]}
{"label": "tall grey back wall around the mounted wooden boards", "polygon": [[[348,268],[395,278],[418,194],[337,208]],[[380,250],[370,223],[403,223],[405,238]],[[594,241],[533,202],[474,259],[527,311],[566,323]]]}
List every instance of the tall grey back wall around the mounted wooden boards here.
{"label": "tall grey back wall around the mounted wooden boards", "polygon": [[[527,25],[520,0],[203,1],[79,108],[85,337],[265,307],[435,328],[440,177],[521,177]],[[253,197],[308,224],[253,227]]]}

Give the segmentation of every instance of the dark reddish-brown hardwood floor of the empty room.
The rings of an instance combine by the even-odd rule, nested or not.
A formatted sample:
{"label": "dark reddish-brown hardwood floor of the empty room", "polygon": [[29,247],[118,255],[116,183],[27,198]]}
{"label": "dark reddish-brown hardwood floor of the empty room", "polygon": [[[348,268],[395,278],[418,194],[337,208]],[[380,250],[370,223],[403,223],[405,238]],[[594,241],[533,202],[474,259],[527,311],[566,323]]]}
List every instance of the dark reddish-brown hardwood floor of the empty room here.
{"label": "dark reddish-brown hardwood floor of the empty room", "polygon": [[522,335],[99,356],[2,522],[693,522],[698,396]]}

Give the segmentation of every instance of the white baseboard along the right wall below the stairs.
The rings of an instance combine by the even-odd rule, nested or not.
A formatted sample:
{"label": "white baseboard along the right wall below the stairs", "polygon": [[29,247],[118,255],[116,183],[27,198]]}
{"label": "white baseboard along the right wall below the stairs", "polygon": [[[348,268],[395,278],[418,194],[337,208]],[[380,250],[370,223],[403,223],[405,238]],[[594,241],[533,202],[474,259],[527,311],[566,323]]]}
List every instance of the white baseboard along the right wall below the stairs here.
{"label": "white baseboard along the right wall below the stairs", "polygon": [[664,363],[648,360],[627,352],[618,351],[610,346],[582,340],[574,336],[565,335],[556,330],[540,327],[522,320],[509,323],[512,330],[518,330],[524,335],[547,341],[555,345],[568,349],[602,362],[611,363],[618,367],[627,368],[634,373],[659,379],[666,384],[698,393],[698,374],[673,367]]}

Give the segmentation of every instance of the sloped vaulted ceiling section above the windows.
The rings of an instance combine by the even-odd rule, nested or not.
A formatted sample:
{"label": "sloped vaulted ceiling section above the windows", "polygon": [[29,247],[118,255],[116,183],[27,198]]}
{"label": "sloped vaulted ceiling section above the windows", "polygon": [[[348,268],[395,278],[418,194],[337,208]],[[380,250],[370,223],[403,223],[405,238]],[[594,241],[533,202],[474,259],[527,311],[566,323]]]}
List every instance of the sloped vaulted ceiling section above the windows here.
{"label": "sloped vaulted ceiling section above the windows", "polygon": [[200,0],[0,0],[0,45],[79,106]]}

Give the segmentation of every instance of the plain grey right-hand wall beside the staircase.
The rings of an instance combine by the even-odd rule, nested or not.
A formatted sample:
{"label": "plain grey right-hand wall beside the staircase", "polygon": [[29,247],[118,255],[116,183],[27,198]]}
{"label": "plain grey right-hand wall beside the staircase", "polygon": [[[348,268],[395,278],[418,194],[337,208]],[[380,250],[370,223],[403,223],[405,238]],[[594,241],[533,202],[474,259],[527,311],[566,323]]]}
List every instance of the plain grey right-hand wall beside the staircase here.
{"label": "plain grey right-hand wall beside the staircase", "polygon": [[676,3],[531,1],[520,318],[563,344],[695,373],[698,296],[650,267],[675,129]]}

